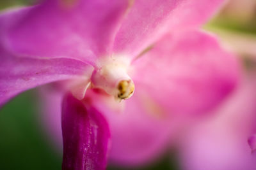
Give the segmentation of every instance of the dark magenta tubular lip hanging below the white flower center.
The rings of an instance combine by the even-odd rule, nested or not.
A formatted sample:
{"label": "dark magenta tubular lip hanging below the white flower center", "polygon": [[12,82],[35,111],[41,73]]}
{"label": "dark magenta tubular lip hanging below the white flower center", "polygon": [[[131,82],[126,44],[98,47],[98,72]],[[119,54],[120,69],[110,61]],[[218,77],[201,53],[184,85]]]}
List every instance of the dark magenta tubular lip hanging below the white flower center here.
{"label": "dark magenta tubular lip hanging below the white flower center", "polygon": [[63,99],[62,169],[106,169],[109,127],[104,117],[68,94]]}

